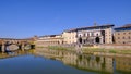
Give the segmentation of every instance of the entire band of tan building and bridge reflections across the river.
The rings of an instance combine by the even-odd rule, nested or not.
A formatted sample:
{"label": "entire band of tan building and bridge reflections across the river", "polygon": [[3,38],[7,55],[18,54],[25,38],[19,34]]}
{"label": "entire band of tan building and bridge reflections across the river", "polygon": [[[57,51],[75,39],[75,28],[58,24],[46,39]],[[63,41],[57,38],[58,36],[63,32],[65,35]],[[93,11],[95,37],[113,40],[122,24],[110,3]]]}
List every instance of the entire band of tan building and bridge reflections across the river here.
{"label": "entire band of tan building and bridge reflections across the river", "polygon": [[70,65],[72,67],[86,72],[104,74],[131,73],[131,57],[127,58],[127,57],[79,54],[73,51],[44,49],[44,50],[16,51],[4,54],[0,53],[0,60],[25,54],[33,54],[35,57],[58,60],[63,62],[66,65]]}

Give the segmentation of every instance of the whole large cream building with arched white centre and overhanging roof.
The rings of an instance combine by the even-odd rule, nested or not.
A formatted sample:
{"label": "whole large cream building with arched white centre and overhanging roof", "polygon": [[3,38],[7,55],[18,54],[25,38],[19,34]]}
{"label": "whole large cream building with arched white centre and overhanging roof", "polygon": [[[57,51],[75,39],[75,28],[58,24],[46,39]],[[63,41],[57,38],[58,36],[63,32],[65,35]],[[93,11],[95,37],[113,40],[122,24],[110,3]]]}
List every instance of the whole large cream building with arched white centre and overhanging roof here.
{"label": "whole large cream building with arched white centre and overhanging roof", "polygon": [[74,28],[63,32],[64,44],[112,44],[114,25]]}

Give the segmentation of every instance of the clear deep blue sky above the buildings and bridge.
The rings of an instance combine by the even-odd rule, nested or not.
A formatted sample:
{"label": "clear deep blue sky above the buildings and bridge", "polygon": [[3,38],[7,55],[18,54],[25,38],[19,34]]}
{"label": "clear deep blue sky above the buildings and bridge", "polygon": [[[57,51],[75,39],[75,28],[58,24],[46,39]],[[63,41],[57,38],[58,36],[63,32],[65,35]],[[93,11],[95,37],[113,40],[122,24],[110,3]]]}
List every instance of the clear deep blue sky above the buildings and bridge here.
{"label": "clear deep blue sky above the buildings and bridge", "polygon": [[0,38],[61,34],[94,23],[131,24],[131,0],[0,0]]}

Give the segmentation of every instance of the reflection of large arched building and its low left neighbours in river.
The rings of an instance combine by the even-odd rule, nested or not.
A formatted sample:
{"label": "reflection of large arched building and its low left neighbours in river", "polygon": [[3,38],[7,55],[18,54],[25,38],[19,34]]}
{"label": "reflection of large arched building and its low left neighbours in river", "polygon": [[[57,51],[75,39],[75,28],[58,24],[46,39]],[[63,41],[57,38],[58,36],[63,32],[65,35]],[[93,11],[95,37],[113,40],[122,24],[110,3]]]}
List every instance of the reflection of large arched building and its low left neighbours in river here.
{"label": "reflection of large arched building and its low left neighbours in river", "polygon": [[45,58],[62,61],[64,64],[74,66],[80,70],[93,72],[114,72],[114,60],[109,57],[95,57],[93,54],[78,54],[75,52],[60,50],[45,50],[36,52]]}

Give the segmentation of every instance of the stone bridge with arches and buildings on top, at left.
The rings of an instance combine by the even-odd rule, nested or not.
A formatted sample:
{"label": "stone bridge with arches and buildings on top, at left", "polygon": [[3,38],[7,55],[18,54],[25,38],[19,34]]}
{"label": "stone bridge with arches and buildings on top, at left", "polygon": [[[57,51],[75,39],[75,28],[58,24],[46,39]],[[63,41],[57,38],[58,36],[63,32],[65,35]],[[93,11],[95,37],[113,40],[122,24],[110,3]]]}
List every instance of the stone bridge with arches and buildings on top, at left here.
{"label": "stone bridge with arches and buildings on top, at left", "polygon": [[34,39],[14,39],[14,38],[0,38],[0,51],[12,51],[12,50],[26,50],[34,49]]}

